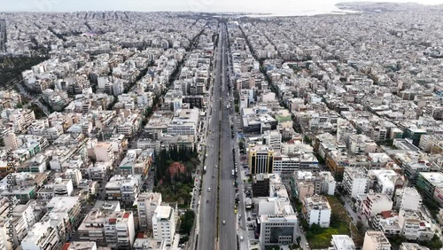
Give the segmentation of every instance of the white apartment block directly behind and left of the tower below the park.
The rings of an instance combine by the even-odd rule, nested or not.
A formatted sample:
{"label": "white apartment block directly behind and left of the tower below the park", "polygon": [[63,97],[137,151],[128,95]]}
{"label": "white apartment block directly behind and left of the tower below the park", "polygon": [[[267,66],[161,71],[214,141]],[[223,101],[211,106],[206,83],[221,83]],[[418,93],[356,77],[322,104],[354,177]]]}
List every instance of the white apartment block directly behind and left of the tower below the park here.
{"label": "white apartment block directly behind and left of the tower below the park", "polygon": [[140,193],[137,199],[138,224],[140,230],[152,230],[152,216],[161,204],[161,193]]}

